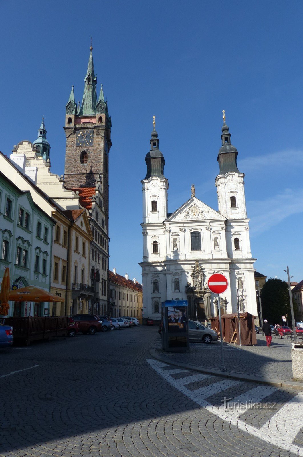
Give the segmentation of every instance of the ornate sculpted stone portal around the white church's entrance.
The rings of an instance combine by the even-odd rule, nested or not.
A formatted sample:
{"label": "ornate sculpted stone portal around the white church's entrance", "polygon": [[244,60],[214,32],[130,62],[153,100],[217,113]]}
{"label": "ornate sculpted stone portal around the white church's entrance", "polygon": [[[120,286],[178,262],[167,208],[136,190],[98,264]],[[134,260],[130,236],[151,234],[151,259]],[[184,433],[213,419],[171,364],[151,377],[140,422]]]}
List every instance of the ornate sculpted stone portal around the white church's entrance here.
{"label": "ornate sculpted stone portal around the white church's entrance", "polygon": [[[205,274],[203,267],[199,265],[199,260],[196,260],[195,266],[192,267],[192,284],[187,283],[185,292],[188,300],[188,318],[199,320],[201,322],[209,321],[211,317],[218,315],[218,300],[214,300],[214,314],[211,310],[211,294],[207,286],[205,286]],[[220,297],[221,313],[226,314],[227,301]]]}

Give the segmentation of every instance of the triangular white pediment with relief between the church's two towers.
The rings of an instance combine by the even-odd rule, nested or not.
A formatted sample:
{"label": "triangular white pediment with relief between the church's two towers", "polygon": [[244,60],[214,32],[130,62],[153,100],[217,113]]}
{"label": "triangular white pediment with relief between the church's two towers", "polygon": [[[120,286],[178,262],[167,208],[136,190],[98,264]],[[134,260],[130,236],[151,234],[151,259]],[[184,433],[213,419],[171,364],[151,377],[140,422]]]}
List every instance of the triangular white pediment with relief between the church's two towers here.
{"label": "triangular white pediment with relief between the church's two towers", "polygon": [[172,213],[165,222],[207,221],[212,219],[224,220],[225,218],[198,198],[192,197]]}

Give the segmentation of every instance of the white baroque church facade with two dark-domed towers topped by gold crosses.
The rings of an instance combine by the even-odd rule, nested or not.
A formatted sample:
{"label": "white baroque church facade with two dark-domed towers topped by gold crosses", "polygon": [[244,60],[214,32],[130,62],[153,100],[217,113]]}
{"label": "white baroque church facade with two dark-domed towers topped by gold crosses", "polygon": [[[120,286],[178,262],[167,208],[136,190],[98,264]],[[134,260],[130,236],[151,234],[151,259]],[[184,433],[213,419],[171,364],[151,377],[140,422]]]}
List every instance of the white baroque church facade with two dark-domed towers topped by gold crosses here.
{"label": "white baroque church facade with two dark-domed towers topped by gold crosses", "polygon": [[251,255],[249,219],[246,215],[244,173],[237,167],[237,149],[229,128],[222,127],[222,146],[215,179],[218,211],[195,196],[168,213],[168,180],[158,134],[151,133],[146,154],[143,193],[144,318],[161,318],[161,302],[188,300],[189,318],[206,321],[218,315],[218,299],[207,287],[209,276],[222,273],[229,287],[220,297],[221,314],[240,312],[257,316],[254,259]]}

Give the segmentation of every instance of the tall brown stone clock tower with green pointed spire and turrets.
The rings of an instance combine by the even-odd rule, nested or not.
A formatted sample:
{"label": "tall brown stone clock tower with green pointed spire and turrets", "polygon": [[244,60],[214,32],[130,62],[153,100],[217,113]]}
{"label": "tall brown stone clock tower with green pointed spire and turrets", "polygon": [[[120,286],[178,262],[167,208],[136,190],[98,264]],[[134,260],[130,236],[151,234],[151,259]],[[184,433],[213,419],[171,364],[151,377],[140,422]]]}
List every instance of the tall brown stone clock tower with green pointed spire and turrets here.
{"label": "tall brown stone clock tower with green pointed spire and turrets", "polygon": [[97,98],[93,48],[84,77],[82,103],[76,103],[72,87],[66,105],[66,153],[64,181],[68,188],[101,186],[104,210],[108,215],[108,158],[111,146],[111,118],[101,85]]}

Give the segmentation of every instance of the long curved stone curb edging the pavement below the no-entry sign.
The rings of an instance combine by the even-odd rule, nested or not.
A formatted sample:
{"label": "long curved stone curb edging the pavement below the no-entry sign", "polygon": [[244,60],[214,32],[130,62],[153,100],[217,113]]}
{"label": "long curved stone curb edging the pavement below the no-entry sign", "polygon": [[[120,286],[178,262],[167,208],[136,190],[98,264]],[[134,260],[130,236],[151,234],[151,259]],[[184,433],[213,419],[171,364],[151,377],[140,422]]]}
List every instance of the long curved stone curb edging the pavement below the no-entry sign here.
{"label": "long curved stone curb edging the pavement below the no-entry sign", "polygon": [[259,383],[259,384],[267,384],[269,386],[274,387],[284,387],[284,388],[292,388],[297,390],[303,390],[303,383],[300,381],[281,381],[281,379],[274,379],[266,376],[252,376],[245,373],[235,373],[228,370],[216,370],[214,368],[204,368],[204,367],[196,367],[195,365],[190,365],[188,363],[182,362],[175,362],[167,360],[166,357],[161,357],[157,354],[155,349],[150,349],[149,353],[151,357],[157,359],[163,363],[167,363],[168,365],[173,365],[174,367],[178,368],[186,368],[188,370],[193,370],[199,373],[211,374],[214,376],[221,376],[221,377],[229,377],[231,379],[237,379],[240,381],[246,381],[248,383]]}

